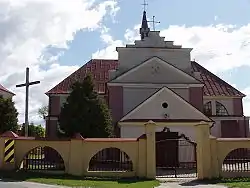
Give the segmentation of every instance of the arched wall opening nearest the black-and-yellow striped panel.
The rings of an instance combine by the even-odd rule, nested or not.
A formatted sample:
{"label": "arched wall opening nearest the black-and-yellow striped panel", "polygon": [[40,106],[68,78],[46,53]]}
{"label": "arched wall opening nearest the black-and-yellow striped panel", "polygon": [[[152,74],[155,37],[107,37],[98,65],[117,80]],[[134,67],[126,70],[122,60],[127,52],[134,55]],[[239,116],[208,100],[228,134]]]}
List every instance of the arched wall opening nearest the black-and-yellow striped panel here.
{"label": "arched wall opening nearest the black-and-yellow striped panel", "polygon": [[64,173],[65,166],[61,155],[51,147],[36,147],[23,158],[21,170]]}

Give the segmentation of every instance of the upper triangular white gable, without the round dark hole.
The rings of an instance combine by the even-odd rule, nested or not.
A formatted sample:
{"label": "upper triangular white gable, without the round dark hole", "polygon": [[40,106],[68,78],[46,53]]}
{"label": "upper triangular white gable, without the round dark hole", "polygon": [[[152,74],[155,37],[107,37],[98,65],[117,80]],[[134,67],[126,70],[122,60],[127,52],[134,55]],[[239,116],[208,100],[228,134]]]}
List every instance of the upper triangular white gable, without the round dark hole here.
{"label": "upper triangular white gable, without the round dark hole", "polygon": [[200,83],[198,80],[163,61],[158,57],[152,57],[128,72],[118,76],[112,83]]}

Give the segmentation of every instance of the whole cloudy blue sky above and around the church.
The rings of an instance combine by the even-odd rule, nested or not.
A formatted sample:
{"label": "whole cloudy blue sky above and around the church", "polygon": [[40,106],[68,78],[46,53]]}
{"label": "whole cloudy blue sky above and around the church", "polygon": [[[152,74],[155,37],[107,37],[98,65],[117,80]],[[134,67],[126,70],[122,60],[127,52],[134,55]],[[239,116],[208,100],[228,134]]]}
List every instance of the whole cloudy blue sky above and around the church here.
{"label": "whole cloudy blue sky above and around the church", "polygon": [[[25,68],[30,122],[46,91],[91,58],[117,59],[115,48],[138,38],[143,0],[0,0],[0,83],[13,91],[24,122]],[[250,115],[250,0],[148,0],[148,19],[166,40],[193,48],[192,59],[247,95]],[[152,25],[151,25],[152,28]]]}

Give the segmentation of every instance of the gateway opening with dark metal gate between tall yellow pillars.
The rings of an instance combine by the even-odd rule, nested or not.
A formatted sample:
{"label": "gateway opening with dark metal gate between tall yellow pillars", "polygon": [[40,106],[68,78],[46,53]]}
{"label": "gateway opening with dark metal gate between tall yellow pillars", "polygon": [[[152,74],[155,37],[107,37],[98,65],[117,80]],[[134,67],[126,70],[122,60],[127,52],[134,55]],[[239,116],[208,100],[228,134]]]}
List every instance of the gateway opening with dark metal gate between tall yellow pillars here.
{"label": "gateway opening with dark metal gate between tall yellow pillars", "polygon": [[156,175],[169,178],[197,176],[196,143],[184,134],[165,130],[155,133]]}

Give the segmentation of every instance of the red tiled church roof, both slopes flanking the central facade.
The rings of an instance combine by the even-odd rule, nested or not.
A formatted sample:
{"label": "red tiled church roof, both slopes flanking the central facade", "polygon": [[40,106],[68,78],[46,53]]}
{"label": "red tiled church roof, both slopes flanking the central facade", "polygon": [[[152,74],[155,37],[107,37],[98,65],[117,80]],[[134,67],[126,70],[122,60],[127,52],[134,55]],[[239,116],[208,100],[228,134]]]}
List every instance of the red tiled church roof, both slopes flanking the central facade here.
{"label": "red tiled church roof, both slopes flanking the central facade", "polygon": [[[196,62],[191,62],[194,72],[200,72],[200,76],[194,76],[205,84],[204,95],[205,96],[237,96],[244,97],[245,95],[229,85],[201,65]],[[115,70],[118,66],[118,60],[102,60],[92,59],[70,76],[65,78],[62,82],[49,90],[46,94],[66,94],[70,90],[70,86],[74,81],[81,81],[84,79],[87,73],[91,73],[96,82],[96,86],[105,84],[109,80],[109,70]]]}

